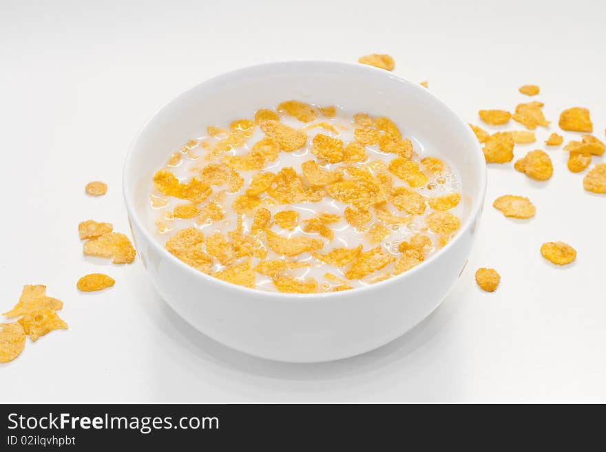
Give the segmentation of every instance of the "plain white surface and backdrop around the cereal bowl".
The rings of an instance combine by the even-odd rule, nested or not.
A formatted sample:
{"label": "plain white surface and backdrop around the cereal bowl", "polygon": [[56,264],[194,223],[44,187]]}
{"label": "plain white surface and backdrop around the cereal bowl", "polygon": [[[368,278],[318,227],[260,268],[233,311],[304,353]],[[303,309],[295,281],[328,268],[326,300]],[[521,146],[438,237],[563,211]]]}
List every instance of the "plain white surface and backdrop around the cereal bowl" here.
{"label": "plain white surface and backdrop around the cereal bowl", "polygon": [[[605,3],[29,3],[0,0],[0,312],[23,284],[44,283],[64,301],[70,330],[0,365],[1,401],[606,402],[606,197],[583,191],[559,149],[548,151],[548,182],[491,166],[477,245],[450,296],[404,337],[335,363],[271,363],[227,349],[171,312],[140,261],[85,259],[77,235],[89,218],[129,232],[123,158],[158,107],[255,63],[389,53],[397,74],[429,80],[475,123],[478,109],[530,100],[517,88],[537,83],[550,131],[562,109],[580,105],[603,139]],[[516,147],[516,158],[550,131]],[[107,195],[87,197],[90,180],[107,182]],[[529,196],[536,217],[495,211],[506,193]],[[555,240],[576,248],[576,263],[542,259],[541,243]],[[479,266],[499,270],[497,292],[475,286]],[[116,286],[79,293],[77,279],[93,271]]]}

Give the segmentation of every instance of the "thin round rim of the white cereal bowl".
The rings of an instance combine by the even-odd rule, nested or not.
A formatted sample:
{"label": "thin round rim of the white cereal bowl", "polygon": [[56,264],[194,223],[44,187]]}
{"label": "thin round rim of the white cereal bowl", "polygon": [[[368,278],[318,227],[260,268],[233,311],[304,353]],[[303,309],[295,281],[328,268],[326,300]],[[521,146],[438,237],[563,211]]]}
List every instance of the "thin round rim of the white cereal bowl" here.
{"label": "thin round rim of the white cereal bowl", "polygon": [[156,111],[154,111],[154,114],[152,114],[147,119],[147,121],[145,121],[145,124],[143,125],[143,127],[140,127],[140,129],[136,133],[136,136],[132,140],[132,142],[128,148],[125,162],[123,165],[122,190],[123,190],[123,197],[124,197],[127,214],[129,215],[130,221],[132,221],[136,224],[137,228],[141,231],[141,233],[143,233],[143,236],[145,237],[145,239],[152,244],[151,246],[154,246],[154,248],[156,248],[156,251],[158,251],[160,253],[164,253],[165,256],[167,257],[167,259],[173,261],[176,264],[176,266],[178,266],[179,268],[182,268],[185,272],[190,272],[191,275],[194,275],[194,277],[201,278],[203,281],[207,281],[208,283],[211,283],[211,284],[218,284],[219,286],[222,286],[225,290],[233,292],[234,295],[240,295],[240,296],[244,296],[244,297],[247,295],[248,296],[252,295],[254,297],[269,297],[272,299],[282,299],[284,301],[293,301],[293,300],[300,300],[300,299],[305,299],[306,301],[315,301],[315,300],[321,301],[321,300],[324,300],[327,298],[331,298],[331,299],[348,298],[348,297],[351,297],[351,292],[356,292],[357,294],[363,294],[363,292],[370,293],[373,290],[377,290],[377,288],[386,288],[387,286],[396,284],[401,279],[414,278],[415,275],[417,274],[417,272],[423,270],[426,266],[429,266],[430,263],[432,263],[432,261],[439,259],[440,255],[444,254],[444,250],[448,250],[448,248],[452,248],[452,246],[454,246],[454,244],[457,243],[457,241],[459,241],[461,239],[461,237],[468,231],[468,229],[470,229],[472,227],[472,224],[474,222],[476,222],[476,220],[478,219],[479,215],[481,214],[482,208],[483,208],[484,198],[485,198],[485,193],[486,193],[487,175],[486,175],[485,166],[484,166],[484,171],[481,171],[481,174],[480,174],[479,189],[476,193],[478,195],[477,202],[475,203],[474,206],[472,206],[472,209],[471,209],[466,221],[461,225],[458,233],[456,235],[454,235],[454,237],[448,242],[448,244],[443,246],[443,248],[441,248],[441,250],[439,250],[438,252],[435,252],[435,254],[431,255],[428,259],[422,261],[421,263],[419,263],[419,265],[415,266],[414,268],[411,268],[410,270],[407,270],[406,272],[400,273],[399,275],[394,275],[393,277],[390,277],[384,281],[379,281],[378,283],[369,284],[368,286],[354,288],[352,290],[341,290],[338,292],[320,292],[320,293],[311,293],[311,294],[300,294],[300,293],[287,293],[287,292],[270,292],[267,290],[247,288],[244,286],[239,286],[237,284],[228,283],[227,281],[223,281],[222,279],[211,277],[211,275],[207,275],[206,273],[200,272],[199,270],[196,270],[195,268],[187,265],[187,263],[181,261],[176,256],[172,255],[164,246],[160,246],[160,243],[158,242],[158,240],[154,239],[154,237],[151,237],[151,233],[149,233],[147,228],[145,228],[145,226],[143,226],[140,218],[138,217],[138,215],[136,213],[136,209],[134,208],[134,205],[133,205],[134,194],[131,193],[131,190],[129,189],[129,186],[128,186],[129,184],[127,183],[127,181],[129,180],[129,172],[130,172],[130,168],[132,165],[132,160],[134,159],[136,144],[138,143],[140,136],[143,135],[143,133],[145,132],[145,130],[147,129],[149,124],[156,118],[156,116],[158,116],[165,108],[167,108],[172,103],[175,103],[176,101],[180,100],[181,98],[187,97],[190,94],[190,92],[193,92],[194,90],[198,89],[198,87],[200,87],[201,85],[216,83],[223,78],[233,78],[236,76],[247,76],[248,72],[255,72],[255,71],[258,71],[259,69],[271,69],[271,68],[279,69],[280,67],[289,66],[289,65],[302,65],[302,66],[311,66],[311,67],[313,67],[314,65],[332,65],[332,66],[341,67],[342,69],[347,69],[348,71],[357,71],[360,73],[367,72],[368,74],[373,73],[375,76],[377,73],[380,73],[380,74],[384,74],[384,76],[386,76],[388,78],[397,80],[399,83],[404,83],[404,85],[408,85],[408,87],[410,87],[413,90],[417,90],[420,93],[424,93],[422,95],[430,96],[430,98],[433,98],[433,100],[435,100],[435,101],[437,101],[437,103],[441,104],[441,106],[443,108],[450,111],[450,114],[452,114],[452,116],[454,116],[454,118],[457,118],[457,120],[459,120],[461,125],[465,126],[465,128],[467,129],[468,138],[470,139],[470,142],[474,144],[472,148],[477,151],[474,153],[474,155],[472,155],[472,157],[479,160],[479,164],[485,165],[483,151],[482,151],[480,144],[477,140],[477,137],[474,135],[472,129],[470,129],[470,127],[466,127],[466,122],[461,120],[459,115],[448,104],[446,104],[438,96],[436,96],[435,94],[430,92],[429,89],[426,89],[419,83],[411,82],[410,80],[407,80],[406,78],[401,77],[397,74],[393,74],[392,72],[388,72],[385,69],[379,69],[377,67],[373,67],[370,65],[362,65],[359,63],[344,63],[341,61],[329,61],[329,60],[328,61],[323,61],[323,60],[273,61],[273,62],[269,62],[269,63],[262,63],[259,65],[241,67],[239,69],[233,69],[229,72],[223,72],[222,74],[202,80],[199,83],[196,83],[196,85],[185,89],[185,91],[182,91],[180,94],[178,94],[174,98],[171,98],[170,100],[168,100],[166,103],[164,103],[158,109],[156,109]]}

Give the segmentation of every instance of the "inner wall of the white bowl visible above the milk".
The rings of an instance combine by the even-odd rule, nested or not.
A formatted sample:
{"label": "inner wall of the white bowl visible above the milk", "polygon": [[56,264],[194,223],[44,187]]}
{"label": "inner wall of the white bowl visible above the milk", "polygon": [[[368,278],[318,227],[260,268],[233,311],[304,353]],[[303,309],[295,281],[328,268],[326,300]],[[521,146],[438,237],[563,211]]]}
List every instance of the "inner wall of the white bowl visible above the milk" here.
{"label": "inner wall of the white bowl visible above the milk", "polygon": [[[470,130],[426,88],[392,74],[357,65],[323,62],[273,63],[219,76],[181,94],[145,126],[127,161],[127,189],[147,222],[152,175],[171,153],[208,125],[252,118],[259,108],[297,99],[318,105],[339,105],[351,114],[365,111],[387,116],[404,136],[438,149],[461,179],[465,215],[481,194],[481,161]],[[461,218],[465,220],[466,218]],[[152,222],[153,224],[153,222]],[[153,231],[148,231],[153,233]]]}

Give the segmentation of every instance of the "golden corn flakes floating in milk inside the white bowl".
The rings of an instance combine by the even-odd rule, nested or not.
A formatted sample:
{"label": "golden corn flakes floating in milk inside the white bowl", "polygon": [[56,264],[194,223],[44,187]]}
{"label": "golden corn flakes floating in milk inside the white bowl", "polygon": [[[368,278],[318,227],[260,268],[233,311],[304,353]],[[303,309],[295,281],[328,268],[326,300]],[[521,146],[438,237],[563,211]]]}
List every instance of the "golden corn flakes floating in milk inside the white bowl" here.
{"label": "golden corn flakes floating in milk inside the white bowl", "polygon": [[458,175],[406,125],[299,100],[249,118],[167,149],[151,177],[158,239],[200,272],[260,290],[351,290],[414,268],[457,233]]}

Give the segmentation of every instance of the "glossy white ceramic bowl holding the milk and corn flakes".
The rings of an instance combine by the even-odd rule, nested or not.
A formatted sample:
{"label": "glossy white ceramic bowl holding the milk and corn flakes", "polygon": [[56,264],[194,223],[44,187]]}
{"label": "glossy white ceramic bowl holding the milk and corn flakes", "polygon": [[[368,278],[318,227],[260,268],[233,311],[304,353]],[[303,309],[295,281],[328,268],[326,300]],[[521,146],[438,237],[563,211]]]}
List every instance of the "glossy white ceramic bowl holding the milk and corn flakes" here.
{"label": "glossy white ceramic bowl holding the milk and corn flakes", "polygon": [[[214,279],[171,255],[149,230],[152,175],[169,152],[205,125],[282,100],[342,105],[395,120],[459,171],[468,208],[456,237],[419,266],[373,286],[326,294],[281,294]],[[239,69],[196,85],[162,107],[126,158],[123,189],[138,255],[162,297],[220,343],[272,360],[312,363],[384,345],[425,319],[465,266],[485,192],[485,162],[472,131],[428,89],[366,65],[290,61]]]}

